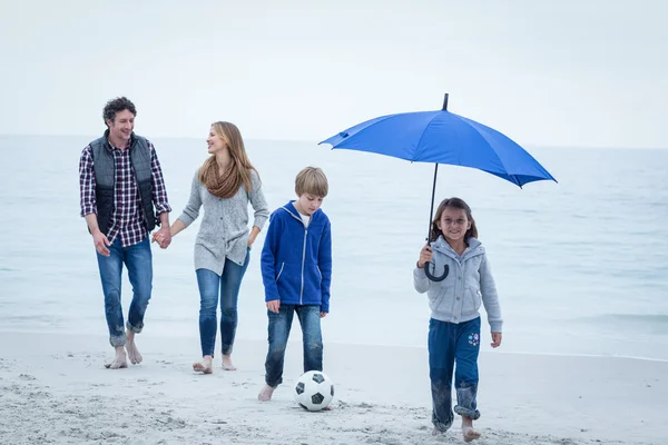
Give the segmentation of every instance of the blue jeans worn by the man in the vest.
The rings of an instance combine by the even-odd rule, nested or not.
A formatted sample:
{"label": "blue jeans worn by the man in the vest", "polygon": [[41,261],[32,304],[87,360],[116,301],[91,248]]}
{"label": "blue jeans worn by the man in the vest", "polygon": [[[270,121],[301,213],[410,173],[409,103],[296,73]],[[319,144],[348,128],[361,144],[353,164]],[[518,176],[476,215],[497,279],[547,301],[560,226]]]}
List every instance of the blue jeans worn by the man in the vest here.
{"label": "blue jeans worn by the man in the vest", "polygon": [[120,284],[122,265],[128,268],[128,277],[132,285],[132,301],[128,312],[127,328],[140,333],[144,328],[144,314],[153,289],[153,254],[148,237],[128,247],[120,247],[116,239],[109,247],[109,256],[97,254],[102,293],[105,294],[105,314],[109,327],[111,346],[125,346],[126,333],[120,301]]}

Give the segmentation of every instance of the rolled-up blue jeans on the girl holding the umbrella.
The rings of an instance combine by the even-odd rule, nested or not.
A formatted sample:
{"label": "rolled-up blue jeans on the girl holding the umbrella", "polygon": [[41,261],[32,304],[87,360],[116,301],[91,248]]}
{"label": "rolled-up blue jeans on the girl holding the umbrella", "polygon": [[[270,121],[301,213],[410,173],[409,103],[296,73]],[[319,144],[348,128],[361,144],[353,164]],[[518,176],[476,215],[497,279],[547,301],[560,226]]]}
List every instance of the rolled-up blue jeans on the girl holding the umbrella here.
{"label": "rolled-up blue jeans on the girl holding the umbrella", "polygon": [[429,376],[432,389],[432,423],[440,431],[452,426],[452,372],[458,405],[454,412],[473,421],[477,409],[478,354],[480,352],[480,317],[452,324],[429,320]]}

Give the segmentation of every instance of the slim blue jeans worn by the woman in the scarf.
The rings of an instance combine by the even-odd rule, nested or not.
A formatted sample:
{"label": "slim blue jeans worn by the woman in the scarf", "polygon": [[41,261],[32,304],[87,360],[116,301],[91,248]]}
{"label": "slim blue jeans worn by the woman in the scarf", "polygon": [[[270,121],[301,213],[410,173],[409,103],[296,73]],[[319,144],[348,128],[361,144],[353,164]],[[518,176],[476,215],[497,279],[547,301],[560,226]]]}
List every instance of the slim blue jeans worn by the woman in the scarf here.
{"label": "slim blue jeans worn by the woman in the scarf", "polygon": [[249,250],[243,266],[225,259],[223,275],[209,269],[197,269],[199,286],[199,342],[202,356],[214,356],[216,347],[216,310],[220,299],[220,343],[223,355],[230,355],[237,326],[237,301],[242,279],[250,259]]}

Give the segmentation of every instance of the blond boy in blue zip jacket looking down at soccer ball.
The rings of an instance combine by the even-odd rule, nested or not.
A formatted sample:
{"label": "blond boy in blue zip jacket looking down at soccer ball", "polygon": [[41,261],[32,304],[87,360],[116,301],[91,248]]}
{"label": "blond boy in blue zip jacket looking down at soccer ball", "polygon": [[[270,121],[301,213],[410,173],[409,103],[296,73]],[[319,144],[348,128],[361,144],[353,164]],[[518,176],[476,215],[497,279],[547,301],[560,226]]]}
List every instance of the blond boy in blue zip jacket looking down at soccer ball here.
{"label": "blond boy in blue zip jacket looking down at soccer ball", "polygon": [[266,386],[257,398],[272,399],[283,382],[285,347],[296,313],[304,343],[304,372],[323,370],[321,318],[330,312],[332,233],[320,209],[327,196],[327,177],[306,167],[295,179],[297,200],[272,214],[262,250],[262,279],[269,318]]}

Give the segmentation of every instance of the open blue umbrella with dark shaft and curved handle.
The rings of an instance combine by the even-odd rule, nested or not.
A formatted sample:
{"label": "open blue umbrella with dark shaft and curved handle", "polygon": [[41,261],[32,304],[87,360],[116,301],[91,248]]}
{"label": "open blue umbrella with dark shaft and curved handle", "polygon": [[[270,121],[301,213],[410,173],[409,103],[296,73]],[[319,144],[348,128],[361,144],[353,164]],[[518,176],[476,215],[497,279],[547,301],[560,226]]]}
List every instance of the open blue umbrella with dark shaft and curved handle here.
{"label": "open blue umbrella with dark shaft and curved handle", "polygon": [[[382,116],[341,131],[320,144],[392,156],[412,162],[434,162],[430,229],[439,164],[477,168],[519,187],[537,180],[557,181],[509,137],[448,111],[448,93],[442,110]],[[425,270],[433,280],[442,280],[448,276],[448,269],[440,277],[434,277],[429,268]]]}

